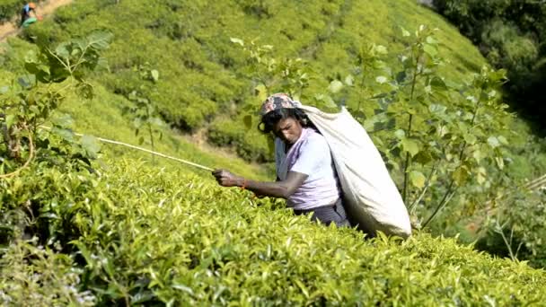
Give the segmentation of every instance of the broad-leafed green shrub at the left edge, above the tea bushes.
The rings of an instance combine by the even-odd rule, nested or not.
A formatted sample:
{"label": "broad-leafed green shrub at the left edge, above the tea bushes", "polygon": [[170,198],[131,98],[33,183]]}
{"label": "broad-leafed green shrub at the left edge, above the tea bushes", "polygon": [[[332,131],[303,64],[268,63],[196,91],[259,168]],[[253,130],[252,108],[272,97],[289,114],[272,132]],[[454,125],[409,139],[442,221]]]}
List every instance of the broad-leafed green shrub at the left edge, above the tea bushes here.
{"label": "broad-leafed green shrub at the left edge, above the tea bushes", "polygon": [[0,178],[13,176],[34,158],[53,162],[60,153],[67,159],[88,162],[96,157],[97,146],[91,137],[75,142],[69,117],[53,120],[48,133],[38,133],[38,128],[57,110],[68,89],[92,97],[92,85],[84,75],[101,65],[99,52],[108,48],[110,38],[108,33],[96,32],[54,49],[42,45],[40,52],[30,50],[25,55],[26,74],[0,91]]}

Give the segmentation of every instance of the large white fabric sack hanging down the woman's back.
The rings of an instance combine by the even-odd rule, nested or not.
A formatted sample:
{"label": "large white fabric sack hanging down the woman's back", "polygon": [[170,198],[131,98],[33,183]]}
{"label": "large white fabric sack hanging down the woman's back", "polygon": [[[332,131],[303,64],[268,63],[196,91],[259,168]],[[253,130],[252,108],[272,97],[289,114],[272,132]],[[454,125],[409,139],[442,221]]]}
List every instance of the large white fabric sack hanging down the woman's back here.
{"label": "large white fabric sack hanging down the woman's back", "polygon": [[298,108],[330,145],[349,220],[372,234],[409,237],[408,210],[364,127],[345,108],[335,114],[304,105]]}

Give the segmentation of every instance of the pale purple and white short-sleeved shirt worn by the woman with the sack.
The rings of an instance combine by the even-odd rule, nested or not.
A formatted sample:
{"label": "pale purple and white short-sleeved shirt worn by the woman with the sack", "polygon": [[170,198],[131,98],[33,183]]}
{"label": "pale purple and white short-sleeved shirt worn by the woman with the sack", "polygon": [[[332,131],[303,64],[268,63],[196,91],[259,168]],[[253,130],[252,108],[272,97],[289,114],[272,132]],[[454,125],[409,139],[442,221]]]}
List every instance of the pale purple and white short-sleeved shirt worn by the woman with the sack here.
{"label": "pale purple and white short-sleeved shirt worn by the woman with the sack", "polygon": [[302,186],[288,197],[288,206],[307,210],[333,205],[340,196],[339,180],[331,159],[330,147],[313,128],[304,128],[302,135],[285,153],[285,143],[275,139],[277,177],[286,180],[288,171],[307,175]]}

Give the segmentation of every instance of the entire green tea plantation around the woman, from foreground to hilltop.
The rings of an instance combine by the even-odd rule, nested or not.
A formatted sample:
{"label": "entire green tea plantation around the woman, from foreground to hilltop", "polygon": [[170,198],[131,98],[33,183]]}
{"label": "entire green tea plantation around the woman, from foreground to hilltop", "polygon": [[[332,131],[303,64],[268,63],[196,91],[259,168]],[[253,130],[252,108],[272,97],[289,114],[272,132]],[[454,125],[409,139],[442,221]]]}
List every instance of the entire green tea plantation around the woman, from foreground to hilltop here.
{"label": "entire green tea plantation around the woman, from foreground to hilltop", "polygon": [[[0,65],[2,305],[545,304],[546,193],[523,188],[546,144],[506,110],[506,72],[413,1],[75,1]],[[364,125],[408,240],[203,170],[275,178],[255,112],[277,91]]]}

